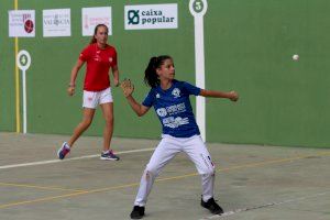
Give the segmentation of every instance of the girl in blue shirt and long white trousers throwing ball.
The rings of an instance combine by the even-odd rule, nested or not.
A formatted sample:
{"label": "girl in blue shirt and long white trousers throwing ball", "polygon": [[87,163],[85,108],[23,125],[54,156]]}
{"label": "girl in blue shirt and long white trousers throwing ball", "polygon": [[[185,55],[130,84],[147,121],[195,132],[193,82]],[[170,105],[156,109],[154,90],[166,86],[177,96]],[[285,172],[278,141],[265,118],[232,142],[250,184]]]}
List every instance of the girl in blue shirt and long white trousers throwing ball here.
{"label": "girl in blue shirt and long white trousers throwing ball", "polygon": [[144,81],[151,87],[151,90],[142,105],[133,98],[134,87],[129,79],[121,84],[123,94],[139,117],[144,116],[151,107],[154,107],[162,123],[163,132],[162,141],[142,175],[131,218],[143,218],[147,196],[155,178],[179,152],[185,152],[188,155],[201,175],[202,195],[200,205],[215,215],[223,213],[222,208],[213,199],[215,165],[201,140],[189,96],[227,98],[237,101],[239,95],[235,91],[205,90],[186,81],[176,80],[173,58],[167,55],[150,59],[145,69]]}

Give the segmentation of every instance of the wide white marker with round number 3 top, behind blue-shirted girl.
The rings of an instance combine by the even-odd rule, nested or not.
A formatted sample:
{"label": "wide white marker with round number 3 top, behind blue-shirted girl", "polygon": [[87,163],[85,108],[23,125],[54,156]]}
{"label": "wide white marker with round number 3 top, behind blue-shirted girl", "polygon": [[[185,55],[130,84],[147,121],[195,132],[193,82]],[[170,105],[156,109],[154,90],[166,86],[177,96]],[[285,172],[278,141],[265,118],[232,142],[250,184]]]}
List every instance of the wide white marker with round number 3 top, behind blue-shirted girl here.
{"label": "wide white marker with round number 3 top, behind blue-shirted girl", "polygon": [[[207,0],[190,0],[189,10],[195,23],[195,75],[196,86],[205,89],[205,55],[204,55],[204,15],[208,8]],[[196,98],[196,120],[200,135],[206,142],[206,105],[205,97]]]}

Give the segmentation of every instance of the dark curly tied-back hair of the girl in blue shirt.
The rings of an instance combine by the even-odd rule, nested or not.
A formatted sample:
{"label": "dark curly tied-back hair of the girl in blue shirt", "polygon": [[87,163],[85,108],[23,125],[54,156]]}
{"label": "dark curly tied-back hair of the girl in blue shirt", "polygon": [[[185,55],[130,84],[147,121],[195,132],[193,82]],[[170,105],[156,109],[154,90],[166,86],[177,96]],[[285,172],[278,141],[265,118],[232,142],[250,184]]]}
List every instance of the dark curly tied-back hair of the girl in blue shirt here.
{"label": "dark curly tied-back hair of the girl in blue shirt", "polygon": [[161,80],[158,78],[156,69],[160,68],[162,66],[162,64],[164,64],[165,59],[172,59],[172,57],[168,55],[151,57],[148,65],[144,72],[144,82],[146,85],[148,85],[150,87],[155,88],[155,87],[160,86]]}

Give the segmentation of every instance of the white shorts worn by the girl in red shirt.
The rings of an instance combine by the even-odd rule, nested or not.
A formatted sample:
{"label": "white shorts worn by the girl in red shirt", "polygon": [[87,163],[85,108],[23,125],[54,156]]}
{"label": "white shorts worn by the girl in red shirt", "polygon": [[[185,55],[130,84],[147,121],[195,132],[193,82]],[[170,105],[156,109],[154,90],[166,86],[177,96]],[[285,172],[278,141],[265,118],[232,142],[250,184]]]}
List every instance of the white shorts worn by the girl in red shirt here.
{"label": "white shorts worn by the girl in red shirt", "polygon": [[113,102],[111,88],[101,91],[86,91],[82,95],[82,107],[96,109],[98,105]]}

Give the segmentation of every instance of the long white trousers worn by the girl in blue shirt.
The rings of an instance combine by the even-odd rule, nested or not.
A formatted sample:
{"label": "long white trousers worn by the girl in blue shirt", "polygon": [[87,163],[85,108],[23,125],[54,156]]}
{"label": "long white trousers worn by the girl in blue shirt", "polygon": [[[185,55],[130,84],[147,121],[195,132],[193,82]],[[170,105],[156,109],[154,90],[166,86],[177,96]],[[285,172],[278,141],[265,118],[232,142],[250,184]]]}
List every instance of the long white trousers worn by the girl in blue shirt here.
{"label": "long white trousers worn by the girl in blue shirt", "polygon": [[201,175],[202,200],[207,201],[213,197],[215,165],[200,135],[187,139],[163,135],[142,175],[134,206],[145,206],[155,178],[163,167],[179,152],[185,152],[189,156]]}

